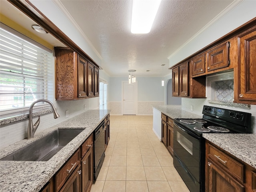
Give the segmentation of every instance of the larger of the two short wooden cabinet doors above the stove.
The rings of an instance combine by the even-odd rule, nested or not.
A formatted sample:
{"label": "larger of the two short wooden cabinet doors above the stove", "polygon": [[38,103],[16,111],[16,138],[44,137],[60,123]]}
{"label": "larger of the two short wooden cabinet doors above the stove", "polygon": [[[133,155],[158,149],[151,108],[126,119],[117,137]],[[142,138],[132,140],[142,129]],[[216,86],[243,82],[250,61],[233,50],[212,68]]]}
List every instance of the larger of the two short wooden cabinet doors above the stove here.
{"label": "larger of the two short wooden cabinet doors above the stove", "polygon": [[207,51],[207,71],[229,66],[229,42],[217,45]]}

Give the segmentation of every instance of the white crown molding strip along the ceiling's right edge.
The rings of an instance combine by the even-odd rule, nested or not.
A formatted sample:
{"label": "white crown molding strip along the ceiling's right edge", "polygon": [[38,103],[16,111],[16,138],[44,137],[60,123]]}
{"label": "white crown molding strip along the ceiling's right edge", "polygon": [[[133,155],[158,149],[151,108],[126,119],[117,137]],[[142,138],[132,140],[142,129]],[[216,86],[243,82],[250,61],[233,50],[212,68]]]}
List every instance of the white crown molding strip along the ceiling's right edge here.
{"label": "white crown molding strip along the ceiling's right edge", "polygon": [[228,14],[230,11],[232,11],[236,6],[241,4],[244,0],[234,0],[228,7],[226,7],[222,12],[220,12],[216,17],[214,17],[206,26],[204,26],[201,30],[199,30],[194,36],[192,36],[188,41],[186,41],[180,48],[178,48],[176,51],[174,51],[170,56],[167,58],[170,59],[172,56],[177,54],[180,50],[182,50],[185,46],[190,44],[193,40],[198,38],[202,33],[204,33],[206,30],[208,30],[211,26],[216,24],[221,18],[223,18],[226,14]]}

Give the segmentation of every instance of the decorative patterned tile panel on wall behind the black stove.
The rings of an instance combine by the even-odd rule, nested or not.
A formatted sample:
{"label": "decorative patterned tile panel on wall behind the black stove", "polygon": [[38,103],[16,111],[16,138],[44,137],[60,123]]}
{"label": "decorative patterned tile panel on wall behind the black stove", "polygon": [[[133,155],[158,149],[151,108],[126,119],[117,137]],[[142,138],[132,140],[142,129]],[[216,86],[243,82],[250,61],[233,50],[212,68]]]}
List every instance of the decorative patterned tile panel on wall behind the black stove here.
{"label": "decorative patterned tile panel on wall behind the black stove", "polygon": [[234,100],[234,79],[211,82],[211,87],[215,90],[214,98],[211,98],[212,100]]}

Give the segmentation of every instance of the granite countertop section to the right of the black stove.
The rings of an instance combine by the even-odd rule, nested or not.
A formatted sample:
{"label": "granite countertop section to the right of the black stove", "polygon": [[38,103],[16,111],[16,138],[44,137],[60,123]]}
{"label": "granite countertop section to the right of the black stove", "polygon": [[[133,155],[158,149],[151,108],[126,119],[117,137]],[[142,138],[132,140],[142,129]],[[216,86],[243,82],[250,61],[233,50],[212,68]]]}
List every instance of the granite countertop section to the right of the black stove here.
{"label": "granite countertop section to the right of the black stove", "polygon": [[256,134],[207,134],[203,137],[256,168]]}

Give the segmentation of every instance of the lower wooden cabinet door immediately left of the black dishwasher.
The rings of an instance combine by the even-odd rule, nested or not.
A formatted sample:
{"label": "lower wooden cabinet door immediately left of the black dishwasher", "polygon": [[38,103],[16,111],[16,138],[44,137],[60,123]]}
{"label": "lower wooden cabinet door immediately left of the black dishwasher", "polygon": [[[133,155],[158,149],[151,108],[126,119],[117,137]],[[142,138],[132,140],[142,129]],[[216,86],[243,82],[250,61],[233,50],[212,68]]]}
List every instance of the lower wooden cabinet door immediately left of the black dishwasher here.
{"label": "lower wooden cabinet door immediately left of the black dishwasher", "polygon": [[92,147],[81,160],[82,166],[82,192],[89,192],[93,182],[93,154]]}

